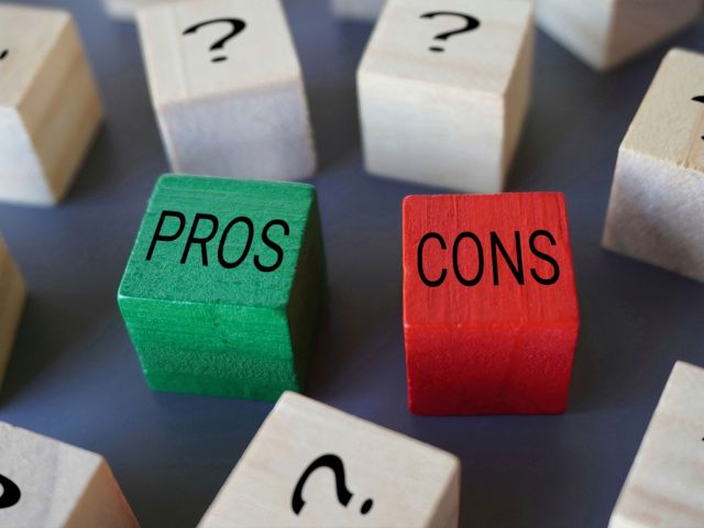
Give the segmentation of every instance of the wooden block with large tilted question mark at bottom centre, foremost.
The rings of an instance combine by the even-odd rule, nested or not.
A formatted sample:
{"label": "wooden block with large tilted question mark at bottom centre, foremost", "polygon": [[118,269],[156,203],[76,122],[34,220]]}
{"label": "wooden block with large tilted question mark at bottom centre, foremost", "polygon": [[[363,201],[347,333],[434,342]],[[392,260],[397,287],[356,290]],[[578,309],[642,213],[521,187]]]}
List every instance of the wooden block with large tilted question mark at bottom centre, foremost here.
{"label": "wooden block with large tilted question mark at bottom centre, foremost", "polygon": [[455,457],[284,393],[199,527],[452,528],[459,491]]}

